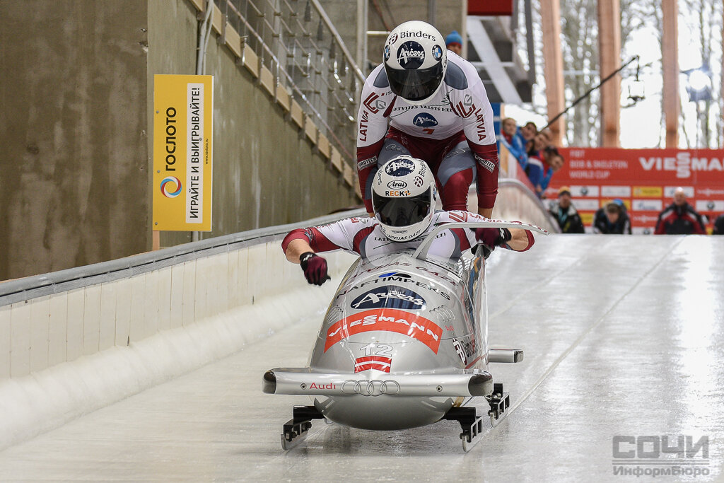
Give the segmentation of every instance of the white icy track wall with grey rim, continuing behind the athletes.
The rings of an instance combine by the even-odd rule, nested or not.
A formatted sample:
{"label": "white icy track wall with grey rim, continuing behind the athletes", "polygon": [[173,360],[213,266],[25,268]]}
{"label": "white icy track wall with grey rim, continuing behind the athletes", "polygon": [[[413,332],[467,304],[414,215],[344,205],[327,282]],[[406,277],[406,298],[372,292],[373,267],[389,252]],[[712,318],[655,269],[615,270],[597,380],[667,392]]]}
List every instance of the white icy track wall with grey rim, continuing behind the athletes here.
{"label": "white icy track wall with grey rim, continuing behind the athletes", "polygon": [[[526,191],[501,180],[505,209],[496,217],[547,227],[540,201]],[[311,286],[286,261],[281,240],[294,227],[363,215],[347,211],[0,283],[0,450],[303,317],[321,318],[355,256],[327,254],[333,283]]]}

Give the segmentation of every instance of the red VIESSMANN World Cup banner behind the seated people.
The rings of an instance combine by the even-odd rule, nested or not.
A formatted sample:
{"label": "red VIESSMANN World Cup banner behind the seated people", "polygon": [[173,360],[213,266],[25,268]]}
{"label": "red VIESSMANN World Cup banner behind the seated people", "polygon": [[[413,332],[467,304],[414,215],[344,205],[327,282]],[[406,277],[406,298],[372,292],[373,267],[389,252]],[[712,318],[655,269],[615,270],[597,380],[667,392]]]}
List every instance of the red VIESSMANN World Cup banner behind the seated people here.
{"label": "red VIESSMANN World Cup banner behind the seated people", "polygon": [[546,197],[571,187],[576,209],[588,229],[595,211],[619,198],[631,230],[654,231],[660,211],[681,187],[687,201],[709,219],[724,211],[724,151],[717,149],[560,148],[565,165],[553,175]]}

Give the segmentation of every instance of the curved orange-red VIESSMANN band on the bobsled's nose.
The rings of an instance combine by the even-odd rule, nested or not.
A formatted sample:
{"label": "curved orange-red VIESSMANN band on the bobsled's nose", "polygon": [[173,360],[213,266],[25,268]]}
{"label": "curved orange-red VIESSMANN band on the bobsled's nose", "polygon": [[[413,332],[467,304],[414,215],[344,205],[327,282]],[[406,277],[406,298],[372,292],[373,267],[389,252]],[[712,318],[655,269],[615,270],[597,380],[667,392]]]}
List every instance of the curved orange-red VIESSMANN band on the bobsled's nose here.
{"label": "curved orange-red VIESSMANN band on the bobsled's nose", "polygon": [[408,335],[419,340],[436,354],[440,346],[440,337],[442,337],[442,329],[432,320],[395,308],[378,308],[345,317],[332,324],[332,327],[327,330],[324,352],[350,335],[373,330]]}

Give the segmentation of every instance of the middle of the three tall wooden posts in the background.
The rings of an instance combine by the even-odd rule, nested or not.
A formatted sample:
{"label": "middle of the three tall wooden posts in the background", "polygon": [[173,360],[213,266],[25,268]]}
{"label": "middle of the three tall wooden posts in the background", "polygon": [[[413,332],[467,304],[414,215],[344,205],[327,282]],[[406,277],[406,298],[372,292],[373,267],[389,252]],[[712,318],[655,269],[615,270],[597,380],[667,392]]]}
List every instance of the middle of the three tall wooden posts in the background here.
{"label": "middle of the three tall wooden posts in the background", "polygon": [[[621,12],[619,0],[598,2],[599,75],[603,79],[621,67]],[[618,148],[620,134],[621,77],[601,86],[601,146]]]}

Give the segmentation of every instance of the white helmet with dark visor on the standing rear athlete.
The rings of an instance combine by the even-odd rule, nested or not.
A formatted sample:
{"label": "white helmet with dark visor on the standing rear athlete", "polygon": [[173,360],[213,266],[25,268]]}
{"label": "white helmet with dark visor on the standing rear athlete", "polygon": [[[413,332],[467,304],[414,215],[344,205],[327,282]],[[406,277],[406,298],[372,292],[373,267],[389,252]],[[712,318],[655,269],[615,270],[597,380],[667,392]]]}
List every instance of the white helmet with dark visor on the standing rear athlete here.
{"label": "white helmet with dark visor on the standing rear athlete", "polygon": [[445,39],[429,23],[397,25],[384,43],[384,71],[392,92],[410,104],[424,104],[445,78],[446,52]]}

